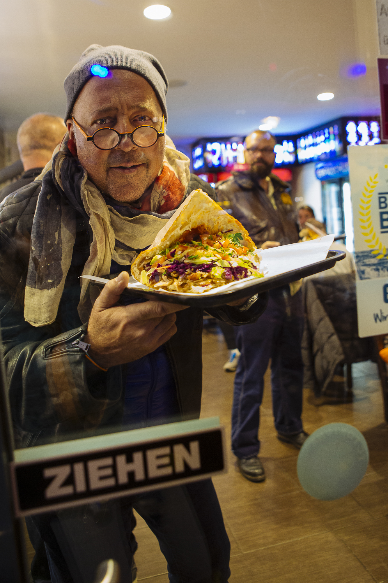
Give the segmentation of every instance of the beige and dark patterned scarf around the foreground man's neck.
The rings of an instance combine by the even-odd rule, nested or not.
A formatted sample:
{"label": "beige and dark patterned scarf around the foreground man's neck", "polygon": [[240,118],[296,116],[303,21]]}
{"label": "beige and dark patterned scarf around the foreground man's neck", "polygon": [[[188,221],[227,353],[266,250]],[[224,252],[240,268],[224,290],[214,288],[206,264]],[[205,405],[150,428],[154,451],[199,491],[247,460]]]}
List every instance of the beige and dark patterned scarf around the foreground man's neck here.
{"label": "beige and dark patterned scarf around the foreground man's neck", "polygon": [[[106,275],[112,259],[130,265],[184,201],[190,160],[178,152],[166,136],[166,150],[151,194],[139,204],[118,203],[104,198],[88,179],[86,170],[72,155],[65,136],[54,150],[41,175],[31,230],[30,262],[24,300],[24,318],[33,326],[55,321],[65,286],[76,237],[76,213],[82,215],[93,234],[90,256],[82,275]],[[70,145],[70,144],[69,144]],[[89,318],[92,299],[90,282],[81,280],[78,312],[82,322]]]}

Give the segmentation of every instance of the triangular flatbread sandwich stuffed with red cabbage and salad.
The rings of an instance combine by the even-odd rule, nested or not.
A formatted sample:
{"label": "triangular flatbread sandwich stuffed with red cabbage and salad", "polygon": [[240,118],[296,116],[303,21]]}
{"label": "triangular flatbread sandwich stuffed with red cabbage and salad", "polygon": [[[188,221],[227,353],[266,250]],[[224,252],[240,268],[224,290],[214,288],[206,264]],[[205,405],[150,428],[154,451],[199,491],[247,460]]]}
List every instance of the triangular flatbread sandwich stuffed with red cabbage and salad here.
{"label": "triangular flatbread sandwich stuffed with red cabbage and salad", "polygon": [[260,256],[238,220],[198,189],[159,231],[131,268],[137,281],[159,290],[204,293],[255,276]]}

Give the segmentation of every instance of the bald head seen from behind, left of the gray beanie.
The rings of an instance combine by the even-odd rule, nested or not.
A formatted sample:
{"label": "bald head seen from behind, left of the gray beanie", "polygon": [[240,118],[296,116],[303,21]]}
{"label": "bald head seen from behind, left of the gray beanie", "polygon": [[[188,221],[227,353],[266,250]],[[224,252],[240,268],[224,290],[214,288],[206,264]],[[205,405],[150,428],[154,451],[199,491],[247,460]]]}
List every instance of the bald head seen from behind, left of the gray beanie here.
{"label": "bald head seen from behind, left of the gray beanie", "polygon": [[16,136],[24,170],[45,166],[65,132],[64,120],[57,115],[37,113],[24,120]]}

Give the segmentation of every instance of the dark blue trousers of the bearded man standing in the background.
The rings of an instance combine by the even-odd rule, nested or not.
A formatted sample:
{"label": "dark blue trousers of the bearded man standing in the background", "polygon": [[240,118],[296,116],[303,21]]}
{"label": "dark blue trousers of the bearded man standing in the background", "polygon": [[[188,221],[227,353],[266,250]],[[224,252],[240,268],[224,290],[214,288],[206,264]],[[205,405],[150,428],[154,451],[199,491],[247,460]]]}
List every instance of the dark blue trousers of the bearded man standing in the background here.
{"label": "dark blue trousers of the bearded man standing in the background", "polygon": [[304,318],[302,292],[270,291],[269,302],[255,324],[235,326],[241,356],[234,380],[232,451],[240,459],[257,455],[264,373],[271,359],[272,408],[275,427],[284,435],[302,431]]}

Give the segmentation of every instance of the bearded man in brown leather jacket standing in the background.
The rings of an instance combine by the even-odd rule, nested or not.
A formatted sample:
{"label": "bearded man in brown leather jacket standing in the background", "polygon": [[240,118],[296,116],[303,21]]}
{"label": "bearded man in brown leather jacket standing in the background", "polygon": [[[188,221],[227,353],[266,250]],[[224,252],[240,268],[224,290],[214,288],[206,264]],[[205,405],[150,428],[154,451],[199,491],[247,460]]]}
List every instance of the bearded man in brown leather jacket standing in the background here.
{"label": "bearded man in brown leather jacket standing in the background", "polygon": [[[290,187],[271,170],[276,139],[256,130],[246,138],[245,160],[250,168],[216,184],[219,201],[229,206],[253,241],[262,249],[297,243],[298,225]],[[304,325],[301,282],[270,291],[266,311],[256,323],[235,328],[241,354],[234,381],[232,451],[239,469],[251,482],[263,482],[258,457],[260,405],[264,373],[271,359],[272,406],[277,437],[300,449],[307,434],[302,427]]]}

